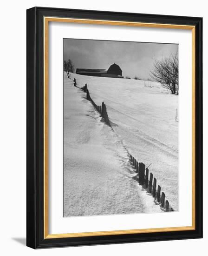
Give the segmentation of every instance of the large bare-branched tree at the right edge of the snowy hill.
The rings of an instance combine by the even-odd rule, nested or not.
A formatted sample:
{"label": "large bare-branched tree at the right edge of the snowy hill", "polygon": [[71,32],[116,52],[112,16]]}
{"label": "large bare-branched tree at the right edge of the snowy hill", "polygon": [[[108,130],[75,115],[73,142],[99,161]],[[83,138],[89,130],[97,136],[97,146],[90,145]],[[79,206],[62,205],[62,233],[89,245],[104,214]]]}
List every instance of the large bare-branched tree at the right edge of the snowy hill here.
{"label": "large bare-branched tree at the right edge of the snowy hill", "polygon": [[178,94],[178,53],[171,54],[162,60],[155,59],[150,76],[154,81],[170,90],[172,94]]}

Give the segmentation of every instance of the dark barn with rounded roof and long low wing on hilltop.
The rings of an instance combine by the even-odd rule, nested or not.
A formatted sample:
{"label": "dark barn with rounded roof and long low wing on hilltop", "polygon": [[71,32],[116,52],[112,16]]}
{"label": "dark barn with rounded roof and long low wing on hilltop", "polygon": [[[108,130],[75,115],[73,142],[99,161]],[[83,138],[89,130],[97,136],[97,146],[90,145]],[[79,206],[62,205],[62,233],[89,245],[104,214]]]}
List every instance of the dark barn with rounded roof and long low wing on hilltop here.
{"label": "dark barn with rounded roof and long low wing on hilltop", "polygon": [[123,78],[122,70],[116,63],[110,65],[108,69],[77,68],[76,74]]}

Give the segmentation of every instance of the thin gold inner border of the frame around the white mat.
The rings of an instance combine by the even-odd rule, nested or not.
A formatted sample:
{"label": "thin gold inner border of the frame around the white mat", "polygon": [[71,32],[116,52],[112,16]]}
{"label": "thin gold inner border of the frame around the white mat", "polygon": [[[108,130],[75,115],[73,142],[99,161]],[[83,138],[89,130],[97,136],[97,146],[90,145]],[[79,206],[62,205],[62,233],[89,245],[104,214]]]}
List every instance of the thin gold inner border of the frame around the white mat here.
{"label": "thin gold inner border of the frame around the white mat", "polygon": [[[127,229],[100,232],[49,234],[48,233],[48,25],[49,22],[70,22],[98,25],[117,25],[133,27],[173,28],[192,30],[192,225],[187,227]],[[44,238],[66,238],[83,236],[108,236],[168,231],[195,230],[195,26],[126,22],[116,20],[88,20],[44,17]]]}

